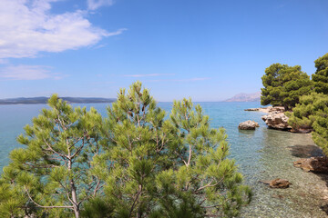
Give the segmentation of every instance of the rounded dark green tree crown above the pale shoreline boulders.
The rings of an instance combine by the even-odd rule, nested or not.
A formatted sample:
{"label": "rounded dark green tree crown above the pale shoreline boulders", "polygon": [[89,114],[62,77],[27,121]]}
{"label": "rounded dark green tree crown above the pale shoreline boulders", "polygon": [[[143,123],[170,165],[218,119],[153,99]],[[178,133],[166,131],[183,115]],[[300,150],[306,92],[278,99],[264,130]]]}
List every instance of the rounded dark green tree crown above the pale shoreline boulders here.
{"label": "rounded dark green tree crown above the pale shoreline boulders", "polygon": [[265,69],[261,77],[264,88],[261,88],[261,104],[284,106],[291,109],[299,103],[299,97],[309,94],[312,89],[310,77],[301,71],[301,66],[272,64]]}

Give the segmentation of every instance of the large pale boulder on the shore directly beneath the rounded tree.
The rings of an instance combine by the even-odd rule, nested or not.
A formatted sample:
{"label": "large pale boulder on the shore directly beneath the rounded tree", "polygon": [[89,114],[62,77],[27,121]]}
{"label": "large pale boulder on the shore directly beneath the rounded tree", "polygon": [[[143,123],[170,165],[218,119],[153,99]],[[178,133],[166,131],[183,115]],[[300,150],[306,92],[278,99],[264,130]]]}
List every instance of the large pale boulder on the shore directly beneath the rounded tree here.
{"label": "large pale boulder on the shore directly beneath the rounded tree", "polygon": [[292,127],[288,124],[288,116],[283,113],[272,112],[267,115],[263,115],[261,119],[272,129],[289,130]]}

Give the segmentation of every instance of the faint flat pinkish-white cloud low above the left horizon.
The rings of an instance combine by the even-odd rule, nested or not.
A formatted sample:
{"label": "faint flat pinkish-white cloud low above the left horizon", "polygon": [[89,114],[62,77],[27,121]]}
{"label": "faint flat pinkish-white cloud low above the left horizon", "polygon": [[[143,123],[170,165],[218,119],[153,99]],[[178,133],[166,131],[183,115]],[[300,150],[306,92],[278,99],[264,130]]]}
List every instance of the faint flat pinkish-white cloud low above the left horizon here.
{"label": "faint flat pinkish-white cloud low above the left horizon", "polygon": [[52,74],[49,66],[44,65],[8,65],[0,68],[0,78],[8,80],[61,79],[61,74]]}

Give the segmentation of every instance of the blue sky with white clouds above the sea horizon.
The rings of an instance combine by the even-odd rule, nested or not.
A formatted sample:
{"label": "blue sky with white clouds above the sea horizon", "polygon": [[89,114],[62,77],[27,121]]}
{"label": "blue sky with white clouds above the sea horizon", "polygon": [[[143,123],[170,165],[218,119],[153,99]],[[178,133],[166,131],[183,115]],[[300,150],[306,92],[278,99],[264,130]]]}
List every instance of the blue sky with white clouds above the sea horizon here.
{"label": "blue sky with white clouds above the sea horizon", "polygon": [[327,39],[326,0],[0,0],[0,98],[221,101],[274,63],[313,74]]}

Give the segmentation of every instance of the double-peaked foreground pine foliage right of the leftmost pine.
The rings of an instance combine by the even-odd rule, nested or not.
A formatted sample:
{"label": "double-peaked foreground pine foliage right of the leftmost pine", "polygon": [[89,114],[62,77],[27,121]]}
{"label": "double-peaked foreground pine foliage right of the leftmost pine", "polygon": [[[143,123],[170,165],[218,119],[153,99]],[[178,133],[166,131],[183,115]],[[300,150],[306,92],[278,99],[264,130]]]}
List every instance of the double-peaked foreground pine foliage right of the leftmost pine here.
{"label": "double-peaked foreground pine foliage right of the leftmost pine", "polygon": [[113,217],[236,215],[251,192],[227,159],[224,130],[211,129],[200,105],[187,99],[165,117],[140,83],[108,107],[101,158],[111,166],[102,205]]}

